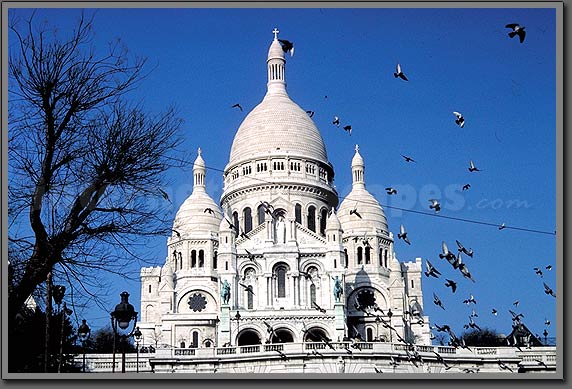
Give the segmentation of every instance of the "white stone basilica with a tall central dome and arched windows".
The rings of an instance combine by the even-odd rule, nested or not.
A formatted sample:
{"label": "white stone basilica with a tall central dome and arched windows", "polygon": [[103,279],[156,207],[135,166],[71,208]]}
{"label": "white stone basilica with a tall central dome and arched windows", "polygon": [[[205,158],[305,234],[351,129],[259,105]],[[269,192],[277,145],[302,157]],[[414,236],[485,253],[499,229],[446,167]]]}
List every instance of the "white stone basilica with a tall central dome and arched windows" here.
{"label": "white stone basilica with a tall central dome and arched windows", "polygon": [[164,265],[141,269],[143,343],[430,345],[421,259],[399,261],[358,146],[342,167],[352,188],[339,203],[320,131],[286,91],[277,34],[266,95],[236,131],[219,202],[206,191],[204,147]]}

